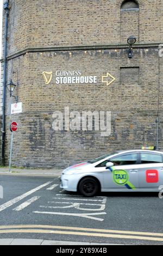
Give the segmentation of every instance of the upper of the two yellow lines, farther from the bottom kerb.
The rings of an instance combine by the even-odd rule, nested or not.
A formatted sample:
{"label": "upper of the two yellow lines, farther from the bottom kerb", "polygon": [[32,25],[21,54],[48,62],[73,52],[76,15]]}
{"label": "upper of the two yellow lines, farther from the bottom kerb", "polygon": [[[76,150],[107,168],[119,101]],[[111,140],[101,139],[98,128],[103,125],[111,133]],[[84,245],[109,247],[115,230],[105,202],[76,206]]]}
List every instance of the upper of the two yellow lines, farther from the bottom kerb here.
{"label": "upper of the two yellow lines, farther from the bottom kerb", "polygon": [[68,229],[77,231],[93,231],[103,233],[115,233],[115,234],[130,234],[130,235],[147,235],[147,236],[163,236],[163,233],[149,233],[140,231],[126,231],[126,230],[111,230],[111,229],[95,229],[95,228],[79,228],[79,227],[64,227],[55,225],[2,225],[1,229],[14,229],[14,228],[51,228],[51,229]]}

